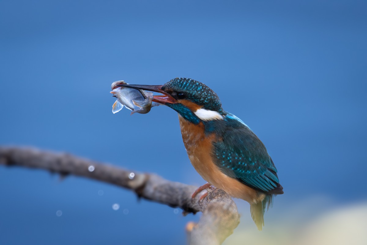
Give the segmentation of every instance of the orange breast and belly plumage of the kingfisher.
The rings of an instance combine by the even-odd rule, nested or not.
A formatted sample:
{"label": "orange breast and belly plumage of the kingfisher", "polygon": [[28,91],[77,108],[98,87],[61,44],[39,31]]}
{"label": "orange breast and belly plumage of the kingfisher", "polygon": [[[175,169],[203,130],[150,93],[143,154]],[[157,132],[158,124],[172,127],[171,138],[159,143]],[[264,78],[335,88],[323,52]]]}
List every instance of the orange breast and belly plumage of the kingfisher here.
{"label": "orange breast and belly plumage of the kingfisher", "polygon": [[218,139],[214,133],[206,136],[202,122],[195,125],[180,115],[178,117],[183,144],[190,162],[204,180],[224,190],[232,197],[244,199],[249,203],[257,203],[265,198],[265,194],[227,176],[215,165],[212,160],[212,142]]}

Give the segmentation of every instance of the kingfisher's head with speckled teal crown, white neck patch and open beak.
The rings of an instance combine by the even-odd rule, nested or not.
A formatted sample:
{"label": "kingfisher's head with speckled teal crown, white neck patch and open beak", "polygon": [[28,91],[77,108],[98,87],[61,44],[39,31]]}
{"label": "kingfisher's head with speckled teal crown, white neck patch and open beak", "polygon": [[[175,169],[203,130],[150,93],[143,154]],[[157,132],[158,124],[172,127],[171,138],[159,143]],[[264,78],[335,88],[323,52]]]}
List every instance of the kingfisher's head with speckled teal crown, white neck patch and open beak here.
{"label": "kingfisher's head with speckled teal crown, white neck patch and open beak", "polygon": [[183,118],[198,124],[200,120],[222,120],[225,111],[216,93],[203,83],[189,78],[175,78],[163,85],[132,85],[132,87],[161,93],[153,97],[153,101],[171,107]]}

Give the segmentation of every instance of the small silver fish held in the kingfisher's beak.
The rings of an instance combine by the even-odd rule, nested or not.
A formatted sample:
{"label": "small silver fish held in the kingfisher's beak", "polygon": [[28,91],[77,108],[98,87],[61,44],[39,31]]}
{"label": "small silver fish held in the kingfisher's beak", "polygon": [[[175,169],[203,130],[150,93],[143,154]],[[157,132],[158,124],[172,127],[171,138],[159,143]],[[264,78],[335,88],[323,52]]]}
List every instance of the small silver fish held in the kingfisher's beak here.
{"label": "small silver fish held in the kingfisher's beak", "polygon": [[121,109],[125,106],[127,109],[131,110],[131,114],[135,112],[145,114],[150,111],[150,108],[153,106],[159,105],[159,103],[153,102],[153,92],[141,90],[141,89],[132,89],[127,87],[120,87],[117,84],[128,84],[124,81],[116,81],[111,85],[113,97],[116,97],[117,100],[112,105],[112,112],[115,114],[116,112],[121,111]]}

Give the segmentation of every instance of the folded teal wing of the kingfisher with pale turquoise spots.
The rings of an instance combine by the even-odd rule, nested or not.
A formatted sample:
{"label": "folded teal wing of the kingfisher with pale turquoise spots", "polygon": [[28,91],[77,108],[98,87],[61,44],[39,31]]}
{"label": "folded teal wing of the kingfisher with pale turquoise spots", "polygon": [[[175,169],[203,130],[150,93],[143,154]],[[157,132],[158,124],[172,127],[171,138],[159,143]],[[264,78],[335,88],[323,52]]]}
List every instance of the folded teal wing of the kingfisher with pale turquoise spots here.
{"label": "folded teal wing of the kingfisher with pale turquoise spots", "polygon": [[252,188],[283,194],[277,169],[265,145],[246,125],[236,126],[223,130],[222,139],[214,143],[215,164],[226,175]]}

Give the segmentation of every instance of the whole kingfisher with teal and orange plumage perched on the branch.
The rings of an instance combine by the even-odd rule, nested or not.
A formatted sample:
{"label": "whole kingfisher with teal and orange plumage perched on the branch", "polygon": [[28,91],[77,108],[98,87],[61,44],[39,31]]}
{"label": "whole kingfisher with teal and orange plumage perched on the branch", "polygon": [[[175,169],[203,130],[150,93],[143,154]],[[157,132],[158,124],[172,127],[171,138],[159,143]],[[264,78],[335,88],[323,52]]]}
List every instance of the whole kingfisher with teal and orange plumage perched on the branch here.
{"label": "whole kingfisher with teal and orange plumage perched on the branch", "polygon": [[251,217],[262,230],[265,210],[272,206],[274,195],[284,193],[283,187],[265,145],[241,119],[223,110],[218,95],[189,78],[163,85],[118,86],[163,94],[153,96],[153,101],[178,112],[190,162],[207,181],[192,197],[210,187],[224,190],[250,203]]}

